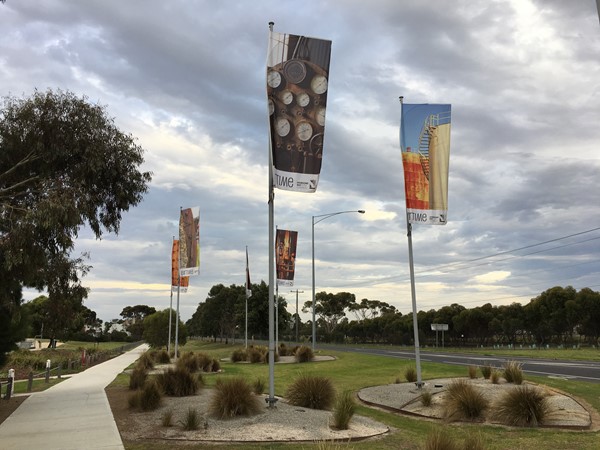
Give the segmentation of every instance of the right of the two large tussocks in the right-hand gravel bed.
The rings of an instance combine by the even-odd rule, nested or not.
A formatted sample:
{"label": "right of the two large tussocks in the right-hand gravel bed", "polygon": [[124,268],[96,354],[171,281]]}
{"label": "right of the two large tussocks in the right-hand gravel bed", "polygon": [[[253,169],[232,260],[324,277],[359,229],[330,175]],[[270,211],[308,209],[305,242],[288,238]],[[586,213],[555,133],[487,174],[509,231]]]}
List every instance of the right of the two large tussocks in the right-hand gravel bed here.
{"label": "right of the two large tussocks in the right-hand gravel bed", "polygon": [[541,389],[521,385],[506,392],[495,407],[495,416],[504,424],[537,427],[548,415],[548,396]]}

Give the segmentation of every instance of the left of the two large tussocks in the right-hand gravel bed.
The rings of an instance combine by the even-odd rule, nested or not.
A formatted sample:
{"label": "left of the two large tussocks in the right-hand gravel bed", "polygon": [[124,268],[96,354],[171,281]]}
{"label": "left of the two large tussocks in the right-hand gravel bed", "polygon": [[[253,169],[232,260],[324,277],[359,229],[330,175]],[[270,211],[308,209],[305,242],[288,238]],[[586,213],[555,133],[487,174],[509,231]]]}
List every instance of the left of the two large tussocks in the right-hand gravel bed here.
{"label": "left of the two large tussocks in the right-hand gravel bed", "polygon": [[444,413],[448,420],[475,420],[488,407],[483,393],[467,380],[458,379],[448,385],[444,397]]}

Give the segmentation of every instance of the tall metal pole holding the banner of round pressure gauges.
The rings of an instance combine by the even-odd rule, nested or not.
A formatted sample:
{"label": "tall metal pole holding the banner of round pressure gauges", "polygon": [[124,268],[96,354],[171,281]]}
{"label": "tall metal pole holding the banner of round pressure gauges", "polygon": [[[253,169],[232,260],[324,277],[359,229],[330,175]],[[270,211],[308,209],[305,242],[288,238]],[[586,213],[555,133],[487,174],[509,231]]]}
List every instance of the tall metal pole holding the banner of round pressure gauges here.
{"label": "tall metal pole holding the banner of round pressure gauges", "polygon": [[[273,38],[274,22],[269,22],[269,55]],[[268,57],[267,57],[268,59]],[[269,125],[269,397],[266,402],[269,408],[275,406],[275,348],[274,348],[274,321],[273,321],[273,295],[274,295],[274,267],[275,267],[275,236],[274,230],[274,200],[275,192],[273,186],[273,154]]]}

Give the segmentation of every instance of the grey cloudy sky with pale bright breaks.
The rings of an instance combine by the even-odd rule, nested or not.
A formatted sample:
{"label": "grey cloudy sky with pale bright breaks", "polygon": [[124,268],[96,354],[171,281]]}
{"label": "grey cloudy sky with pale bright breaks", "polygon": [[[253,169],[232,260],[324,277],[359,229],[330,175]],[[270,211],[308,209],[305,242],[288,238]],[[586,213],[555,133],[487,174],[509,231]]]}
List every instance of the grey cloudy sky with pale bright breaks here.
{"label": "grey cloudy sky with pale bright breaks", "polygon": [[[600,289],[594,0],[7,0],[1,94],[60,88],[105,105],[154,174],[118,236],[78,239],[101,319],[169,306],[180,207],[200,207],[201,241],[182,319],[213,285],[244,283],[246,246],[252,281],[268,281],[269,21],[332,41],[318,190],[275,191],[275,224],[299,233],[301,304],[311,217],[364,209],[315,226],[317,292],[411,311],[399,96],[452,104],[449,222],[413,229],[419,309]],[[291,289],[279,292],[295,309]]]}

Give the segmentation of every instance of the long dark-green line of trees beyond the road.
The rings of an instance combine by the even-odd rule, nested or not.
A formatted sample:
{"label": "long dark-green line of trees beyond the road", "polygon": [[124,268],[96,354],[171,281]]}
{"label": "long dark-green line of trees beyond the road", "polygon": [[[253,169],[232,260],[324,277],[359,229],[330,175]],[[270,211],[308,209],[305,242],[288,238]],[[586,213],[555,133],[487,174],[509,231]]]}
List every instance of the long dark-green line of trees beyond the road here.
{"label": "long dark-green line of trees beyond the road", "polygon": [[[315,298],[318,342],[376,343],[414,345],[412,313],[402,314],[394,306],[378,300],[356,301],[354,294],[319,292]],[[186,323],[191,336],[227,341],[244,336],[245,287],[213,286],[205,302]],[[296,315],[286,310],[278,297],[279,339],[295,339]],[[312,311],[312,301],[302,307]],[[350,316],[350,317],[348,317]],[[299,319],[298,319],[299,320]],[[444,342],[448,346],[491,345],[594,345],[600,340],[600,293],[571,286],[556,286],[542,292],[526,305],[492,305],[474,308],[459,304],[438,310],[419,311],[419,342],[441,345],[431,324],[447,324]],[[312,322],[298,322],[300,340],[312,336]],[[268,339],[268,286],[252,285],[248,299],[248,335]]]}

